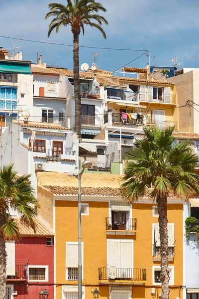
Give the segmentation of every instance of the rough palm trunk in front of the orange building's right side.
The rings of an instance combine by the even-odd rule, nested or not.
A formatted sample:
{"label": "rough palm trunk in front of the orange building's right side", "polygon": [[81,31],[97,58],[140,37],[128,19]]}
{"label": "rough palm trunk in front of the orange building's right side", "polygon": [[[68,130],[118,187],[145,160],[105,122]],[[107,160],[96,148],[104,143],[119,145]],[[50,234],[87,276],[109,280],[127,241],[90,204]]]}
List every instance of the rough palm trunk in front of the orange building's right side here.
{"label": "rough palm trunk in front of the orange building's right side", "polygon": [[168,267],[168,229],[167,229],[167,197],[157,196],[159,229],[160,229],[160,257],[161,257],[161,286],[162,299],[169,299],[169,267]]}

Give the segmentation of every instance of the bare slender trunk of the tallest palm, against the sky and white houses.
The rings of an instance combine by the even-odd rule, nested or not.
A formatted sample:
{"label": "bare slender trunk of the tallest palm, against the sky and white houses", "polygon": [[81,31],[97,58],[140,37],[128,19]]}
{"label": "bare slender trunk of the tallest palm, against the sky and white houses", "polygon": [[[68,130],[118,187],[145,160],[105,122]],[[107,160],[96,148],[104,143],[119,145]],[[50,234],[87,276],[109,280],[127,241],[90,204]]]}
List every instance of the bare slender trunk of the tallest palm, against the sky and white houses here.
{"label": "bare slender trunk of the tallest palm, against the sky and white houses", "polygon": [[79,34],[73,33],[73,63],[75,91],[75,132],[81,140],[81,95],[79,71]]}

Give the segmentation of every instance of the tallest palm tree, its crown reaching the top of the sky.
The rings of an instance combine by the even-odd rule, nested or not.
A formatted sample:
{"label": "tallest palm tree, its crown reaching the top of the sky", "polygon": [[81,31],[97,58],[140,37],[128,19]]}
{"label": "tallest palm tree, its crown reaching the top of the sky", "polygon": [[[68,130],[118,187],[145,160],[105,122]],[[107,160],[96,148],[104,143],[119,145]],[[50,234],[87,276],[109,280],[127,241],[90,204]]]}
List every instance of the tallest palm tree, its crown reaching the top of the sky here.
{"label": "tallest palm tree, its crown reaching the top of the sky", "polygon": [[79,72],[79,35],[85,32],[85,25],[100,30],[106,38],[102,29],[102,23],[108,24],[107,20],[99,14],[106,9],[95,0],[67,0],[67,5],[61,3],[48,4],[50,11],[45,18],[53,16],[49,24],[48,37],[55,29],[56,33],[62,26],[70,26],[73,33],[73,63],[74,63],[74,91],[75,91],[75,132],[81,137],[81,95],[80,95],[80,72]]}

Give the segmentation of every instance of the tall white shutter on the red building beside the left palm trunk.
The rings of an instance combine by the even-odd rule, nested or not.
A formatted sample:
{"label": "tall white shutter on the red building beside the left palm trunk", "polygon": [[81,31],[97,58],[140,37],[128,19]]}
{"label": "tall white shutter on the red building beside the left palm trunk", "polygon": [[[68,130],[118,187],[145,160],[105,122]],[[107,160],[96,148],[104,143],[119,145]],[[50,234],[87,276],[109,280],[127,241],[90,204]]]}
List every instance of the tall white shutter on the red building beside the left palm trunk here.
{"label": "tall white shutter on the red building beside the left palm trunk", "polygon": [[6,258],[6,275],[15,276],[15,242],[6,241],[5,251]]}

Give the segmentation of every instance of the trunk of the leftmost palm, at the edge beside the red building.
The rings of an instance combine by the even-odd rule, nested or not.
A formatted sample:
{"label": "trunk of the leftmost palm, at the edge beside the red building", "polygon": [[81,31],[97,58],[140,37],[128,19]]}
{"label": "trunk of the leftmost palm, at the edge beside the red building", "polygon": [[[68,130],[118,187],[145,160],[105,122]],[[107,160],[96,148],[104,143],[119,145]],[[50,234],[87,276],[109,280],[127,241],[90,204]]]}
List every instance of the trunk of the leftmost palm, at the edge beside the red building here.
{"label": "trunk of the leftmost palm, at the edge beside the red building", "polygon": [[[3,212],[0,211],[0,226],[4,223]],[[6,299],[6,251],[5,241],[0,233],[0,299]]]}

